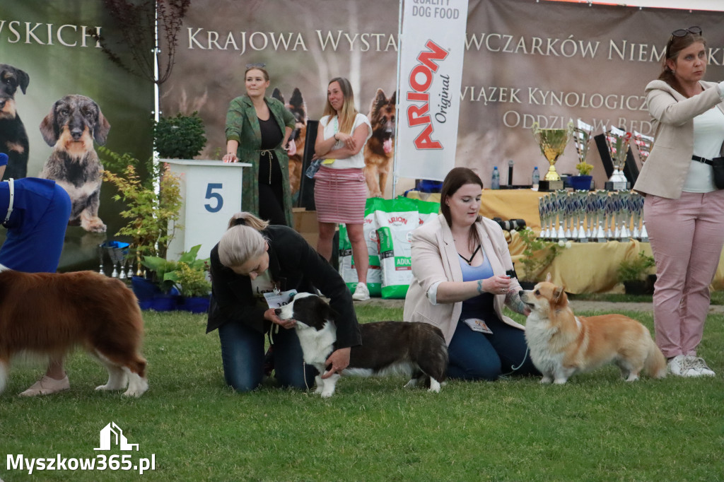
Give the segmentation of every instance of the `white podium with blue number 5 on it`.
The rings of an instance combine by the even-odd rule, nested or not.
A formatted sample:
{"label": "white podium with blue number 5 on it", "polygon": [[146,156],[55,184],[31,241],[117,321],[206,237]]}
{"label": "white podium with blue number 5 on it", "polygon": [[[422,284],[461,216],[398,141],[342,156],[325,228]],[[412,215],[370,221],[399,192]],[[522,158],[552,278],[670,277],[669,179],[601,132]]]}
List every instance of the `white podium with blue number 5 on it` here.
{"label": "white podium with blue number 5 on it", "polygon": [[[243,168],[251,164],[223,161],[187,161],[161,159],[171,166],[171,172],[179,177],[181,207],[179,224],[169,242],[166,258],[178,259],[181,253],[195,245],[201,245],[198,259],[209,258],[211,248],[224,234],[229,219],[243,211],[241,206],[241,179]],[[169,224],[169,229],[173,224]]]}

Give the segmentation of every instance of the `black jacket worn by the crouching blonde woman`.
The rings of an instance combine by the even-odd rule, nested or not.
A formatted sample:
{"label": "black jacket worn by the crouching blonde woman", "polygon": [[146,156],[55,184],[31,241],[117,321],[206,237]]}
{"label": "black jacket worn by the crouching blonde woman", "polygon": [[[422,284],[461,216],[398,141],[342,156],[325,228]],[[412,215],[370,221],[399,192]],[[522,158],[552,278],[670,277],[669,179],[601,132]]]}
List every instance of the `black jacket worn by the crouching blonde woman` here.
{"label": "black jacket worn by the crouching blonde woman", "polygon": [[[271,225],[261,231],[269,243],[269,274],[281,291],[316,292],[329,297],[330,305],[340,316],[336,348],[361,344],[352,295],[345,282],[327,260],[322,258],[294,229]],[[264,319],[251,289],[251,278],[235,274],[219,261],[219,245],[211,250],[211,304],[206,333],[234,321],[266,333],[271,321]]]}

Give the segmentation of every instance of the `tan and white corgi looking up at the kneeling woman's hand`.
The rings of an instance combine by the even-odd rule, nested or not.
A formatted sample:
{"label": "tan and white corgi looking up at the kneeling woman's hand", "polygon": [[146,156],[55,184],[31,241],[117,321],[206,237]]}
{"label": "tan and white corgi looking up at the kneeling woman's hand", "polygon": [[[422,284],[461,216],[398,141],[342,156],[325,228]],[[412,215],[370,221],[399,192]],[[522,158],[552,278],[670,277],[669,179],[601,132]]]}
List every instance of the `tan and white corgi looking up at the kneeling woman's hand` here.
{"label": "tan and white corgi looking up at the kneeling woman's hand", "polygon": [[666,359],[639,321],[623,315],[576,316],[568,306],[563,287],[545,282],[521,291],[531,314],[526,321],[526,341],[531,360],[543,373],[541,383],[565,384],[576,373],[615,363],[626,381],[666,376]]}

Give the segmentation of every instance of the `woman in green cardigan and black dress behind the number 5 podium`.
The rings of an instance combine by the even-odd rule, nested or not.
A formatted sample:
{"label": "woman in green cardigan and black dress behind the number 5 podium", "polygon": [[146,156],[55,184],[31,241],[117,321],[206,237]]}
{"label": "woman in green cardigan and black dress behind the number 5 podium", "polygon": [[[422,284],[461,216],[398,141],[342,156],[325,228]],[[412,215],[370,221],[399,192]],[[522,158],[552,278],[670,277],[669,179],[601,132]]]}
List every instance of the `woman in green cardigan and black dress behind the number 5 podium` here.
{"label": "woman in green cardigan and black dress behind the number 5 podium", "polygon": [[247,162],[251,172],[242,179],[241,204],[271,224],[294,226],[285,146],[296,120],[276,98],[266,97],[269,72],[264,64],[248,64],[246,93],[229,104],[224,162]]}

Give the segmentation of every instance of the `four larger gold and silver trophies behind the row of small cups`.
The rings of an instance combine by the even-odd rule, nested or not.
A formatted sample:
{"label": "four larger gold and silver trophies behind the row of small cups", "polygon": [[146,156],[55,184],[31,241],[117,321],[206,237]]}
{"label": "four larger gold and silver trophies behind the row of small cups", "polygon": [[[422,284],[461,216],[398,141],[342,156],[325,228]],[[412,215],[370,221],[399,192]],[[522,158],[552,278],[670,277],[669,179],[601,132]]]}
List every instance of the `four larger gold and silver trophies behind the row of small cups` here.
{"label": "four larger gold and silver trophies behind the row of small cups", "polygon": [[[573,124],[571,119],[565,129],[541,129],[539,123],[534,122],[533,137],[538,142],[548,164],[550,164],[539,190],[554,191],[563,189],[563,181],[555,170],[555,162],[563,155],[565,146],[571,137],[573,137],[576,144],[578,163],[586,162],[593,130],[593,126],[586,124],[581,119],[578,119],[576,125]],[[633,145],[636,147],[641,161],[645,161],[651,151],[654,138],[636,131],[633,131],[633,133],[626,132],[613,126],[605,132],[605,138],[613,163],[613,174],[606,182],[605,188],[609,191],[628,190],[631,185],[626,179],[626,175],[623,174],[623,166],[626,164],[626,156],[628,156],[629,141],[633,138]]]}

